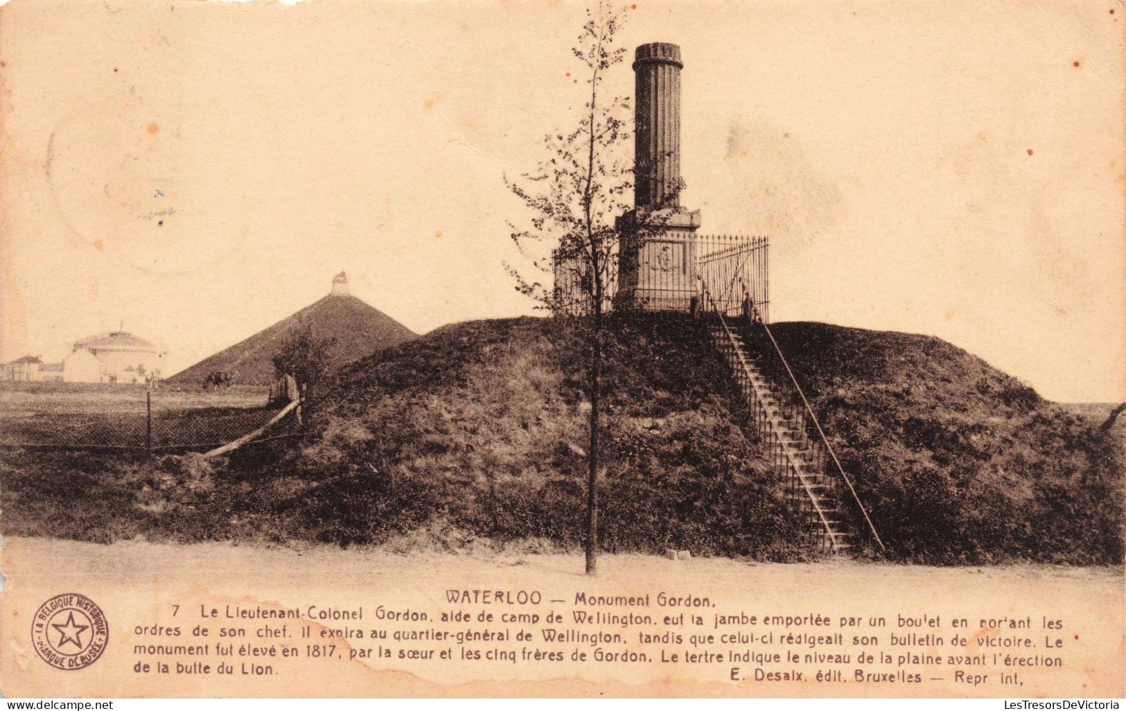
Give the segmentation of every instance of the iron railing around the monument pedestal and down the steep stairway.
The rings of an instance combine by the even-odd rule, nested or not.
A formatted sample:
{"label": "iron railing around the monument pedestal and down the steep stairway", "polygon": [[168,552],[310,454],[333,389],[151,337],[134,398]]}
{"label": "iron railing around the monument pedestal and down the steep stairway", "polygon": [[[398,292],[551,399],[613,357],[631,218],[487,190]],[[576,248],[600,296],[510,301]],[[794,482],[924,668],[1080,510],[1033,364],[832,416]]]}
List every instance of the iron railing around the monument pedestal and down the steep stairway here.
{"label": "iron railing around the monument pedestal and down the steep stairway", "polygon": [[[593,300],[589,263],[581,255],[556,250],[553,265],[555,312],[590,313]],[[875,544],[883,550],[852,479],[838,460],[770,331],[768,238],[668,231],[640,243],[624,245],[618,266],[615,278],[604,284],[604,311],[613,308],[671,314],[709,313],[718,319],[727,337],[717,345],[749,396],[749,415],[762,438],[768,461],[810,523],[807,534],[821,545],[839,544],[830,533],[830,521],[834,518],[829,517],[810,485],[798,477],[797,465],[813,473],[817,486],[828,487],[826,499],[846,509],[851,530],[859,537],[857,543]],[[735,336],[744,347],[740,347]],[[762,381],[756,382],[759,376]],[[796,434],[796,441],[788,439],[792,434]],[[837,513],[832,515],[839,517]]]}

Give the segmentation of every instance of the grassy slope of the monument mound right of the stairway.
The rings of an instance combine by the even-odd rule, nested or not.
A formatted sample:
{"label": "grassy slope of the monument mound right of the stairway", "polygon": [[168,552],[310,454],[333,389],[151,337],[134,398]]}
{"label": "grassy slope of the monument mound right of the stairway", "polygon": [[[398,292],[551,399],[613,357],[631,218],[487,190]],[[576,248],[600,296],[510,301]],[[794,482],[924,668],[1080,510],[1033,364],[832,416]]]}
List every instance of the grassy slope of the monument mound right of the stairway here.
{"label": "grassy slope of the monument mound right of the stairway", "polygon": [[896,558],[1123,560],[1123,437],[938,338],[774,332]]}

